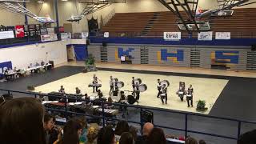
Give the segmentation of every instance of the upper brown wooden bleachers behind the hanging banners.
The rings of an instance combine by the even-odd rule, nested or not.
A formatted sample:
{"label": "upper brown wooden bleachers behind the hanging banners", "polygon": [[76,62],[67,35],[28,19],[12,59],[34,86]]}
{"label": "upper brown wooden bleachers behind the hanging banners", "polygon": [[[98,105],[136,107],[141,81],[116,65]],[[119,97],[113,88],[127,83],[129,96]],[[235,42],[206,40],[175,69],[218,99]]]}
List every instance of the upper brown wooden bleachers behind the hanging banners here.
{"label": "upper brown wooden bleachers behind the hanging banners", "polygon": [[[177,26],[178,18],[170,11],[155,12],[158,13],[156,21],[153,23],[146,37],[162,37],[165,31],[179,31]],[[182,13],[184,15],[185,13]],[[154,12],[146,13],[117,13],[106,24],[102,26],[102,32],[110,32],[110,36],[125,37],[141,36],[142,31],[148,25]],[[211,31],[214,32],[231,32],[231,38],[255,38],[256,34],[256,9],[235,9],[232,17],[226,18],[206,18],[210,22]],[[182,32],[182,37],[187,38],[186,31]],[[197,38],[197,34],[193,34]]]}

